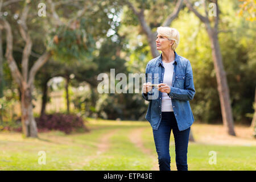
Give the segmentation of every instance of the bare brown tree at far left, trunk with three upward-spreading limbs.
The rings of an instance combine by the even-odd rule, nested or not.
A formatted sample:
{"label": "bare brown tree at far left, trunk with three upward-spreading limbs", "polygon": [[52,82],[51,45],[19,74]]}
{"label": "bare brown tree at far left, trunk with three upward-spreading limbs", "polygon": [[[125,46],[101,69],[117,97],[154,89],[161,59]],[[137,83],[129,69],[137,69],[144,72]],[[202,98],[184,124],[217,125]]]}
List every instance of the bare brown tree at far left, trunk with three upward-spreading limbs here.
{"label": "bare brown tree at far left, trunk with three upward-spreading limbs", "polygon": [[7,22],[6,19],[0,19],[0,23],[3,28],[6,30],[6,59],[9,63],[9,68],[11,70],[11,74],[19,86],[21,95],[21,107],[22,107],[22,130],[26,137],[38,137],[36,122],[34,116],[32,114],[32,89],[34,84],[35,74],[40,67],[51,56],[51,53],[48,51],[44,52],[36,63],[33,65],[31,70],[28,72],[28,59],[31,53],[32,48],[32,40],[27,31],[27,15],[28,15],[28,6],[25,5],[22,11],[22,15],[20,17],[19,24],[19,32],[22,35],[22,38],[25,42],[25,47],[23,49],[23,57],[22,57],[22,72],[19,71],[18,66],[13,57],[13,33],[11,30],[10,23]]}

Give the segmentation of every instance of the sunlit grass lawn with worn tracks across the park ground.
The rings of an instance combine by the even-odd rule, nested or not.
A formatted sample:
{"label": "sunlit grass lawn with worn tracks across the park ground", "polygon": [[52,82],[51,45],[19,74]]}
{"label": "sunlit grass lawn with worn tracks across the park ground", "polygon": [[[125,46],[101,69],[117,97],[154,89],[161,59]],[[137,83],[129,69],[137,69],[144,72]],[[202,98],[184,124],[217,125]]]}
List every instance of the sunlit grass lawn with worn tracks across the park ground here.
{"label": "sunlit grass lawn with worn tracks across the park ground", "polygon": [[[0,133],[0,170],[158,170],[152,129],[148,122],[106,121],[88,118],[89,133],[65,135],[60,131],[23,138]],[[256,140],[249,127],[236,126],[237,137],[226,135],[222,125],[194,123],[189,142],[189,170],[255,170]],[[46,164],[38,164],[39,151]],[[209,164],[210,151],[216,164]],[[176,170],[173,134],[171,169]]]}

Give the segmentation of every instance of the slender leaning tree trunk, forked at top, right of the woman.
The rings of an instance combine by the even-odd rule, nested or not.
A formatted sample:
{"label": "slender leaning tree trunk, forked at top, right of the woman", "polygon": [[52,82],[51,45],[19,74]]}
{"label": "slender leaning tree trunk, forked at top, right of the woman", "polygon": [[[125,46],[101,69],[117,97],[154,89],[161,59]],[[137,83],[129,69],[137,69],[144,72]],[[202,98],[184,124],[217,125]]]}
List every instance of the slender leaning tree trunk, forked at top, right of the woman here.
{"label": "slender leaning tree trunk, forked at top, right of the woman", "polygon": [[[229,96],[229,87],[226,79],[226,73],[224,70],[224,66],[222,63],[222,55],[220,50],[220,44],[218,42],[218,21],[219,21],[219,8],[217,0],[213,1],[214,6],[213,11],[216,12],[216,16],[214,18],[208,16],[207,3],[204,1],[205,8],[205,16],[201,15],[199,11],[197,11],[189,0],[185,0],[185,4],[189,10],[191,10],[195,15],[205,24],[205,28],[207,30],[208,36],[210,38],[210,45],[212,47],[212,57],[214,63],[214,70],[216,71],[216,79],[218,85],[218,94],[220,97],[221,103],[221,113],[222,120],[224,126],[226,127],[228,134],[236,136],[234,131],[234,121],[232,114],[232,107],[230,105],[230,96]],[[213,26],[211,25],[213,23]]]}

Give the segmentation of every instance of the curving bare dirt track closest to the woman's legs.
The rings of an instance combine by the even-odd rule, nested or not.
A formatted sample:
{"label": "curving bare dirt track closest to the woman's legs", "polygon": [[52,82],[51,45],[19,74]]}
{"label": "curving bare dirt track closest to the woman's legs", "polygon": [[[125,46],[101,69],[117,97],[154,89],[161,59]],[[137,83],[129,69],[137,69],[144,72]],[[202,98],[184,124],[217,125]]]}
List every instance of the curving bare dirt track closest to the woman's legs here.
{"label": "curving bare dirt track closest to the woman's legs", "polygon": [[149,150],[148,148],[145,148],[143,146],[142,142],[142,132],[143,128],[135,129],[133,130],[130,135],[130,141],[133,143],[136,147],[138,147],[145,155],[150,156],[150,158],[153,160],[153,167],[151,168],[152,171],[159,171],[159,165],[158,165],[158,157],[157,155],[153,155],[152,151]]}

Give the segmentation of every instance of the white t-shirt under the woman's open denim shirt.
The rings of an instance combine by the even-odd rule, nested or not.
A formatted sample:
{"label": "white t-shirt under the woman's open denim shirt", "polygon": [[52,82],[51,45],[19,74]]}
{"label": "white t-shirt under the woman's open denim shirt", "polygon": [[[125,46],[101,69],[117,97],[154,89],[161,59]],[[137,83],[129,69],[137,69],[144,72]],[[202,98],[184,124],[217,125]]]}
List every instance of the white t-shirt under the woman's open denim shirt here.
{"label": "white t-shirt under the woman's open denim shirt", "polygon": [[[172,76],[174,75],[173,63],[174,61],[170,63],[163,62],[163,67],[164,67],[163,83],[167,84],[170,87],[172,86]],[[163,111],[174,111],[174,109],[172,109],[172,100],[167,93],[162,93],[162,112]]]}

